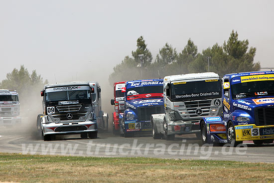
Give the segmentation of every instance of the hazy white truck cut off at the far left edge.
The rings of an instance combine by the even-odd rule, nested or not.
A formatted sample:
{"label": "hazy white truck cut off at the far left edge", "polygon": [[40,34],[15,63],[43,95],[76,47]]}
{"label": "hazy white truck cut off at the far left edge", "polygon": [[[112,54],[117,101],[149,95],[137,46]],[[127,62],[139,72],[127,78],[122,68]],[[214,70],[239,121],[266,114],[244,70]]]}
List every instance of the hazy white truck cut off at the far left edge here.
{"label": "hazy white truck cut off at the far left edge", "polygon": [[21,123],[19,98],[15,90],[0,90],[0,126]]}

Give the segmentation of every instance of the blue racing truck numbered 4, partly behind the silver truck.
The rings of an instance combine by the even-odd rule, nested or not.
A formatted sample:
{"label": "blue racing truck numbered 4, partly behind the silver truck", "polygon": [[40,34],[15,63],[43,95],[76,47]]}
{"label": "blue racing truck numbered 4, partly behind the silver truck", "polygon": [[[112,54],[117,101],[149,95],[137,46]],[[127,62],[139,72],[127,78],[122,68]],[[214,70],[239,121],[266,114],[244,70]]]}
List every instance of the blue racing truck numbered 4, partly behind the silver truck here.
{"label": "blue racing truck numbered 4, partly behind the silver truck", "polygon": [[125,111],[120,120],[120,135],[133,137],[138,132],[151,133],[151,115],[164,113],[163,79],[128,81],[124,91]]}

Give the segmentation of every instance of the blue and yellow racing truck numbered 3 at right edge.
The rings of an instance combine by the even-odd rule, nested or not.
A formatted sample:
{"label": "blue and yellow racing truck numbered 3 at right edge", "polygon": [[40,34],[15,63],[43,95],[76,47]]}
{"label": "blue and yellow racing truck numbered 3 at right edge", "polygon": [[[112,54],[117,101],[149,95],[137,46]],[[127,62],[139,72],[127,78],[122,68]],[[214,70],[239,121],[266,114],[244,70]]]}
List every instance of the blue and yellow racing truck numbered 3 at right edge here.
{"label": "blue and yellow racing truck numbered 3 at right edge", "polygon": [[274,141],[274,72],[226,74],[222,79],[223,115],[201,119],[203,143]]}

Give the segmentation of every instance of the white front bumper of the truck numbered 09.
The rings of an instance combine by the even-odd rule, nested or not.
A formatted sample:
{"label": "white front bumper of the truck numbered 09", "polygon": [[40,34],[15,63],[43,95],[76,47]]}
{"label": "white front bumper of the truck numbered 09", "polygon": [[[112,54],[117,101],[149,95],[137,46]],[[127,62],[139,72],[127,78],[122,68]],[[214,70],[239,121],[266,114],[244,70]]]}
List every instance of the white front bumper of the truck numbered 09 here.
{"label": "white front bumper of the truck numbered 09", "polygon": [[87,120],[85,122],[43,124],[44,135],[80,134],[83,132],[98,132],[97,123]]}

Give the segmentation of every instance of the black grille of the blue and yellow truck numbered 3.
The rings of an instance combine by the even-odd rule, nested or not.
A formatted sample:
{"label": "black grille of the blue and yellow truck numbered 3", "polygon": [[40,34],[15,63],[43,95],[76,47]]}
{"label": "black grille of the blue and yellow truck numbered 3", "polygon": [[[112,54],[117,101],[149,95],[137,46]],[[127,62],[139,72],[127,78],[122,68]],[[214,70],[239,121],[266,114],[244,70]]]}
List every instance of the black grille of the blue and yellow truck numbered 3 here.
{"label": "black grille of the blue and yellow truck numbered 3", "polygon": [[274,108],[256,107],[254,109],[257,126],[274,125]]}

